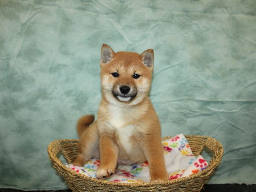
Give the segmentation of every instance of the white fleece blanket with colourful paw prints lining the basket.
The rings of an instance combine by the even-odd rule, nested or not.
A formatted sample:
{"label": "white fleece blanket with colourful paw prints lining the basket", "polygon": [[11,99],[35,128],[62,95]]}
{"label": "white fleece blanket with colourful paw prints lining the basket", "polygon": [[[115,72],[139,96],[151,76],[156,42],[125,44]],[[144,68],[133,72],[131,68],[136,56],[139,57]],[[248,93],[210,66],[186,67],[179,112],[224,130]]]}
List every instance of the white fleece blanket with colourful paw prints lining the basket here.
{"label": "white fleece blanket with colourful paw prints lining the basket", "polygon": [[[199,155],[193,155],[189,143],[183,134],[162,141],[166,169],[169,180],[179,177],[186,177],[207,168],[208,163]],[[67,167],[75,172],[84,174],[88,177],[96,177],[96,170],[100,160],[91,159],[83,167],[66,164]],[[106,179],[108,181],[122,183],[140,183],[150,181],[148,163],[140,165],[118,166],[114,175]]]}

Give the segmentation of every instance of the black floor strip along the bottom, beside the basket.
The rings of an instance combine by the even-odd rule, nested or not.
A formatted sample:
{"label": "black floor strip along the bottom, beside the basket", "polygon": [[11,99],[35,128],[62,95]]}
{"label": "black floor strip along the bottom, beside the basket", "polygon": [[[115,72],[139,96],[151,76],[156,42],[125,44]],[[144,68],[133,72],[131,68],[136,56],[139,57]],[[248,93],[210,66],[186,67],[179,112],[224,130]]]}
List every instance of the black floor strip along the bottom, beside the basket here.
{"label": "black floor strip along the bottom, beside the basket", "polygon": [[[0,189],[0,192],[22,192],[15,189]],[[35,191],[30,191],[35,192]],[[40,191],[49,192],[49,191]],[[55,192],[71,192],[70,189],[58,190]],[[239,184],[221,184],[221,185],[204,185],[201,192],[256,192],[256,184],[253,185],[239,185]]]}

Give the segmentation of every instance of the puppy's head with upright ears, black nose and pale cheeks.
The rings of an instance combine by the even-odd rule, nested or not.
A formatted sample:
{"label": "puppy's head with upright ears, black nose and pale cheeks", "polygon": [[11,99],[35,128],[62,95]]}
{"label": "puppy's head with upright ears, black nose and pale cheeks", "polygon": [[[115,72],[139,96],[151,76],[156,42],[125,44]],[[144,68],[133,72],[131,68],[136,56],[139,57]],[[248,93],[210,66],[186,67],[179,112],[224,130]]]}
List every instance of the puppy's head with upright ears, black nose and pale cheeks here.
{"label": "puppy's head with upright ears, black nose and pale cheeks", "polygon": [[101,82],[105,99],[119,106],[137,105],[148,95],[154,63],[153,49],[142,54],[101,50]]}

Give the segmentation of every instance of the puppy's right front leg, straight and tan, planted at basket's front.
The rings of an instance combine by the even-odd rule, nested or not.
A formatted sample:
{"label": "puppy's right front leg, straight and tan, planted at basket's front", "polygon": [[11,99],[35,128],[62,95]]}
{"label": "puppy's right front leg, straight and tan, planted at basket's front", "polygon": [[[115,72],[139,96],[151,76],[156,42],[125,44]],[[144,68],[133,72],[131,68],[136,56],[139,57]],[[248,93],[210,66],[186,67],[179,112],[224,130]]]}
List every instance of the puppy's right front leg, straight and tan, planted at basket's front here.
{"label": "puppy's right front leg, straight and tan, planted at basket's front", "polygon": [[150,181],[168,180],[161,138],[155,135],[145,136],[141,147],[148,160]]}

